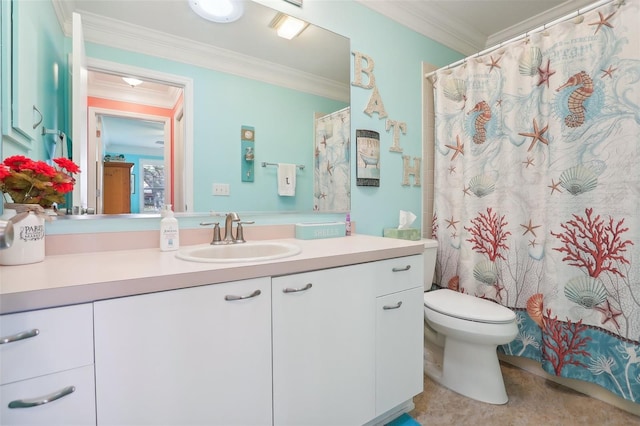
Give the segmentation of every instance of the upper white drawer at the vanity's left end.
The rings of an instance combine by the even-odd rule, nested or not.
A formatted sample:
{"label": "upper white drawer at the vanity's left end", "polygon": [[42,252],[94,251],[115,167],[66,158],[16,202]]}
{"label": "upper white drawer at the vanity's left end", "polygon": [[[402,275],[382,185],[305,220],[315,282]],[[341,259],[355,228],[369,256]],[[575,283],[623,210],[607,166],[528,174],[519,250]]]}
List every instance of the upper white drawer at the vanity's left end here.
{"label": "upper white drawer at the vanity's left end", "polygon": [[0,341],[2,385],[93,364],[92,305],[3,315]]}

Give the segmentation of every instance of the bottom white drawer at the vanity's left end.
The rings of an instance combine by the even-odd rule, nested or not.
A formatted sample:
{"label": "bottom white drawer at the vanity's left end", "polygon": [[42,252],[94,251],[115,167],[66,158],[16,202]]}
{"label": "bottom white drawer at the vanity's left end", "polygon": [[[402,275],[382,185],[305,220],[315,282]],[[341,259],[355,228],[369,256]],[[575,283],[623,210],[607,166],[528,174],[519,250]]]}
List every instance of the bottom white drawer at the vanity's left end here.
{"label": "bottom white drawer at the vanity's left end", "polygon": [[[53,397],[55,394],[60,397]],[[44,399],[53,400],[37,405]],[[10,404],[16,404],[17,401],[33,406],[9,408]],[[0,424],[95,425],[93,366],[0,386]]]}

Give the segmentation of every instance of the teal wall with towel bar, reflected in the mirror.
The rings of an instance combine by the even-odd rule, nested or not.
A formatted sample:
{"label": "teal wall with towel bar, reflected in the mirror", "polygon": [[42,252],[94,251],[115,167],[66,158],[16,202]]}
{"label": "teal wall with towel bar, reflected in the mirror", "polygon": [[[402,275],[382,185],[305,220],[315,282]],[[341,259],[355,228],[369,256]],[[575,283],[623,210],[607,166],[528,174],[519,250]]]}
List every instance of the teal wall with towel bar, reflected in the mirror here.
{"label": "teal wall with towel bar, reflected in the mirror", "polygon": [[[193,79],[195,204],[191,211],[308,211],[313,208],[313,117],[347,104],[207,68],[86,43],[88,57]],[[188,114],[188,112],[187,112]],[[241,181],[240,128],[255,129],[255,179]],[[276,168],[260,162],[305,165],[295,197],[276,193]],[[212,195],[213,183],[230,196]]]}

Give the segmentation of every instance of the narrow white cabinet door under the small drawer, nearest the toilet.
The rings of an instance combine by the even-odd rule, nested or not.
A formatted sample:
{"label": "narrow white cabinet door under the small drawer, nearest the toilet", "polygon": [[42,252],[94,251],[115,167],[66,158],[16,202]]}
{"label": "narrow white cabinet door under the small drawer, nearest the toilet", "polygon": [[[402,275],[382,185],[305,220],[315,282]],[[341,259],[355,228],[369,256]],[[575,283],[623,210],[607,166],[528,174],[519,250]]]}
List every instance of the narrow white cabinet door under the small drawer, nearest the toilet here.
{"label": "narrow white cabinet door under the small drawer, nearest the toilet", "polygon": [[423,287],[376,301],[376,415],[423,388]]}

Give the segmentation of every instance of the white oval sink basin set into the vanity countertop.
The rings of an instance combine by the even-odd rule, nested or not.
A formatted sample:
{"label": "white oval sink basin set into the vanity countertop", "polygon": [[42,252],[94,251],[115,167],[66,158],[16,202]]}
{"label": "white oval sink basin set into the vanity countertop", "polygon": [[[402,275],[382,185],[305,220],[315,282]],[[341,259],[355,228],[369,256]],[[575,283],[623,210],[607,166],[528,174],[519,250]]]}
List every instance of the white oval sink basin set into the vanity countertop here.
{"label": "white oval sink basin set into the vanity countertop", "polygon": [[295,256],[302,249],[295,244],[277,241],[185,247],[176,257],[191,262],[262,262]]}

